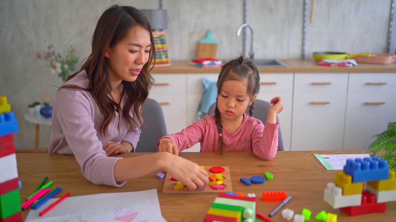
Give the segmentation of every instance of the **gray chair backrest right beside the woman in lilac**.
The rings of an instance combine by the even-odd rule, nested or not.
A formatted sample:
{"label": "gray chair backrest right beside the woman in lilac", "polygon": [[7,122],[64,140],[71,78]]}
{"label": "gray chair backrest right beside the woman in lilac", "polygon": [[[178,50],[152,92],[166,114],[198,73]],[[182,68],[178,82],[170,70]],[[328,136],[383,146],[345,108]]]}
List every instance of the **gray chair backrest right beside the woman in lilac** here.
{"label": "gray chair backrest right beside the woman in lilac", "polygon": [[167,135],[160,103],[147,98],[142,106],[143,127],[135,152],[157,152],[157,141]]}

